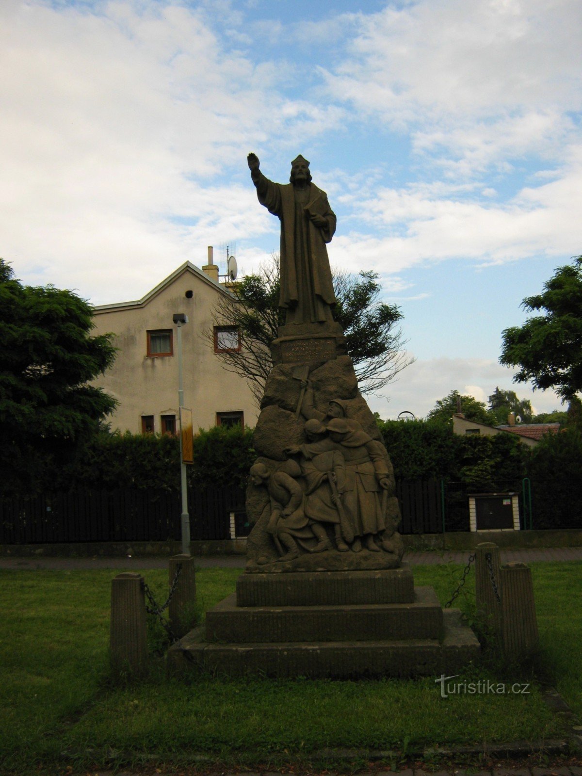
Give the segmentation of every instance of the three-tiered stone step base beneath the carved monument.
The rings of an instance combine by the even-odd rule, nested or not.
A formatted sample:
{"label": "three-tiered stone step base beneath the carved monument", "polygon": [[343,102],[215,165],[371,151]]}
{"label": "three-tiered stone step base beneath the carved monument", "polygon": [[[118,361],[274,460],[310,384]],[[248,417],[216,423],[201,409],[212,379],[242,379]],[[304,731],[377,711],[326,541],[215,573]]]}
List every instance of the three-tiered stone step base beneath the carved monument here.
{"label": "three-tiered stone step base beneath the carved monument", "polygon": [[[296,577],[296,578],[295,578]],[[243,574],[237,593],[168,650],[168,670],[228,676],[454,673],[480,646],[411,570]]]}

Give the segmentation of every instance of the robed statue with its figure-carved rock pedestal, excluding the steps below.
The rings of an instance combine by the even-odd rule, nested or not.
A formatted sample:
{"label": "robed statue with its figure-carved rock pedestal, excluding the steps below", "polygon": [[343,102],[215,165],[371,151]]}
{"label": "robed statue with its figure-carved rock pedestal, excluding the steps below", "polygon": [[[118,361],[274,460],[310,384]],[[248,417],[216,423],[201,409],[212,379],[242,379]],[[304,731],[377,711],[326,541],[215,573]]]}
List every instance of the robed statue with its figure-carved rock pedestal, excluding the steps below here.
{"label": "robed statue with its figure-carved rock pedestal, excluding the steps below", "polygon": [[258,201],[281,221],[286,322],[272,343],[255,429],[247,570],[397,568],[403,546],[390,456],[333,320],[326,244],[334,212],[303,156],[291,163],[287,184],[265,178],[255,154],[248,166]]}

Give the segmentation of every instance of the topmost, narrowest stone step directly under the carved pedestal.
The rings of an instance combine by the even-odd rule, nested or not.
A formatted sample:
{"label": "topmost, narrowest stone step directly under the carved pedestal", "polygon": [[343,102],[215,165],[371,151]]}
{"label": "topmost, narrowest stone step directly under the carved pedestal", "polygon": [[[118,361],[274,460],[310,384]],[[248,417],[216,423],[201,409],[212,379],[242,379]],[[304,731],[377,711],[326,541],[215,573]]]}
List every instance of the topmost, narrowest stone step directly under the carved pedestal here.
{"label": "topmost, narrowest stone step directly under the carved pedestal", "polygon": [[411,604],[414,579],[407,563],[376,571],[244,573],[237,580],[238,606]]}

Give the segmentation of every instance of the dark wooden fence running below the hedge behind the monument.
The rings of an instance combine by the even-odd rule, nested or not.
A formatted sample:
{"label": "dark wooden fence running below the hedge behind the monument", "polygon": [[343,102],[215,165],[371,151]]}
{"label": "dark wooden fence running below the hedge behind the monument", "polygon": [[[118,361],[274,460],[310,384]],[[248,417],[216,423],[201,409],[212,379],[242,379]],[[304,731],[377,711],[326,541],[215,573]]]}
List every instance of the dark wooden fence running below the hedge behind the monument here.
{"label": "dark wooden fence running below the hedge behind the monument", "polygon": [[[401,533],[442,530],[438,481],[400,481],[397,497]],[[179,541],[181,512],[179,494],[167,490],[81,490],[12,498],[0,501],[0,544]],[[244,513],[240,488],[191,490],[192,539],[230,539],[231,512]]]}

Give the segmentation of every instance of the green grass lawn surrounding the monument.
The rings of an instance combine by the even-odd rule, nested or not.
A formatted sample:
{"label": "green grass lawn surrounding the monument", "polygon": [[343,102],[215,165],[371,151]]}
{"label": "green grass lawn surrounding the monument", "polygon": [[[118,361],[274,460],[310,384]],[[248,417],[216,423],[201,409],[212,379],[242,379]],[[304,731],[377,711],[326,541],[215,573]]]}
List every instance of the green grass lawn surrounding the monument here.
{"label": "green grass lawn surrounding the monument", "polygon": [[[417,566],[414,579],[433,585],[444,603],[459,570]],[[309,760],[324,747],[402,752],[541,740],[560,733],[535,683],[530,695],[443,699],[433,678],[352,682],[205,676],[168,681],[161,659],[152,656],[150,677],[113,686],[107,647],[116,573],[0,571],[0,772],[33,772],[39,763],[103,767],[152,757],[178,764],[199,753],[231,765],[277,764]],[[199,570],[200,611],[233,591],[240,573]],[[539,670],[582,715],[582,563],[533,563],[532,573]],[[158,600],[165,598],[167,574],[144,572]],[[473,580],[472,572],[469,594]],[[157,638],[152,629],[153,646]],[[487,663],[461,678],[523,677],[505,675],[501,666]]]}

